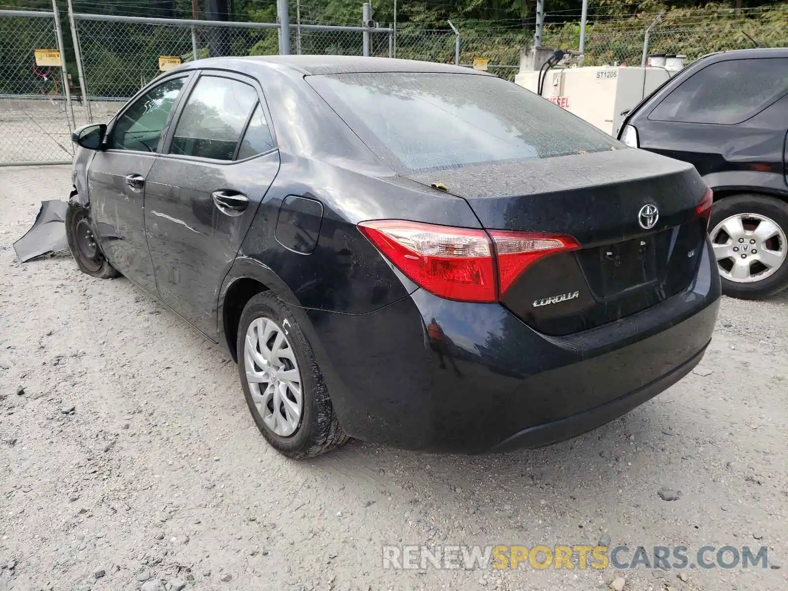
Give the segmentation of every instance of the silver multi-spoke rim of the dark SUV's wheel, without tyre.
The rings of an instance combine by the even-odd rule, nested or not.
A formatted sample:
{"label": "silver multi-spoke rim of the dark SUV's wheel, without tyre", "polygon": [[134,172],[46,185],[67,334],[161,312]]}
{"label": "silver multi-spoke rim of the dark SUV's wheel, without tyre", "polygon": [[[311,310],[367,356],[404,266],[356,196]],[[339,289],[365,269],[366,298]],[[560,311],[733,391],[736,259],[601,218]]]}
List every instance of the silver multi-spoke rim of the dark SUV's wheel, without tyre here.
{"label": "silver multi-spoke rim of the dark SUV's wheel, without tyre", "polygon": [[786,259],[786,235],[759,214],[727,217],[711,233],[719,274],[736,283],[752,283],[774,274]]}

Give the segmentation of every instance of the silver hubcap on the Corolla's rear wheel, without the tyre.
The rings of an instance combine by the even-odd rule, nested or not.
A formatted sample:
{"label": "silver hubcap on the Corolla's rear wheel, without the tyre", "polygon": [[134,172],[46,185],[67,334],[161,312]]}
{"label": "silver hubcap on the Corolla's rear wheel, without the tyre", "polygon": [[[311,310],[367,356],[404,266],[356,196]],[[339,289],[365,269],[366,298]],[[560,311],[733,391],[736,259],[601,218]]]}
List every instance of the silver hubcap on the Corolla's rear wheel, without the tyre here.
{"label": "silver hubcap on the Corolla's rear wheel, without the tyre", "polygon": [[281,437],[296,433],[303,396],[287,333],[270,318],[257,318],[247,329],[243,357],[249,391],[262,421]]}

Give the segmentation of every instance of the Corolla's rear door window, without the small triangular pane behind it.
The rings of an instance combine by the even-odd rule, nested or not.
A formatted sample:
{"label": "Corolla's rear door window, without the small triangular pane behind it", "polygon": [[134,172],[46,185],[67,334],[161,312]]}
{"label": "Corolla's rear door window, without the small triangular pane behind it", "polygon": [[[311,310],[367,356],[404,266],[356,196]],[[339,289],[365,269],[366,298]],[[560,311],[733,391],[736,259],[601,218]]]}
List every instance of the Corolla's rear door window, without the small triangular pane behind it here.
{"label": "Corolla's rear door window, without the small triangular pane behind it", "polygon": [[232,160],[257,100],[249,84],[201,76],[180,113],[170,154]]}

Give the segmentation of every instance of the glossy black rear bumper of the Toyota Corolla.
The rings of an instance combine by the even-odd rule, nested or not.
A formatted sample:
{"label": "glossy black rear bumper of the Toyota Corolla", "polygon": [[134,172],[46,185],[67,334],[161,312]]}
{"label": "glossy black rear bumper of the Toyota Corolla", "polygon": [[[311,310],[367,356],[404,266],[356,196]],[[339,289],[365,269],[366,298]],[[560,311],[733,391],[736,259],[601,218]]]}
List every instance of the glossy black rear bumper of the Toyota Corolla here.
{"label": "glossy black rear bumper of the Toyota Corolla", "polygon": [[700,361],[719,307],[709,250],[686,292],[571,336],[422,290],[370,314],[304,310],[307,332],[353,437],[449,452],[540,447],[630,411]]}

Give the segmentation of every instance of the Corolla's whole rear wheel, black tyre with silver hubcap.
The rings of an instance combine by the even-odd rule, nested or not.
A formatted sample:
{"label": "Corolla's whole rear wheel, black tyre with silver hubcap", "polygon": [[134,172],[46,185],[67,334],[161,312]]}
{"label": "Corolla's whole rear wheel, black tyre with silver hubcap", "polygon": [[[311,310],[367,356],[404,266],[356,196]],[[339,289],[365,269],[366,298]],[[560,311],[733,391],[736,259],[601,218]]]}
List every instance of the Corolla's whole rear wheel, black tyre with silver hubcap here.
{"label": "Corolla's whole rear wheel, black tyre with silver hubcap", "polygon": [[247,302],[236,346],[243,395],[271,447],[303,459],[348,440],[312,348],[281,299],[262,292]]}

